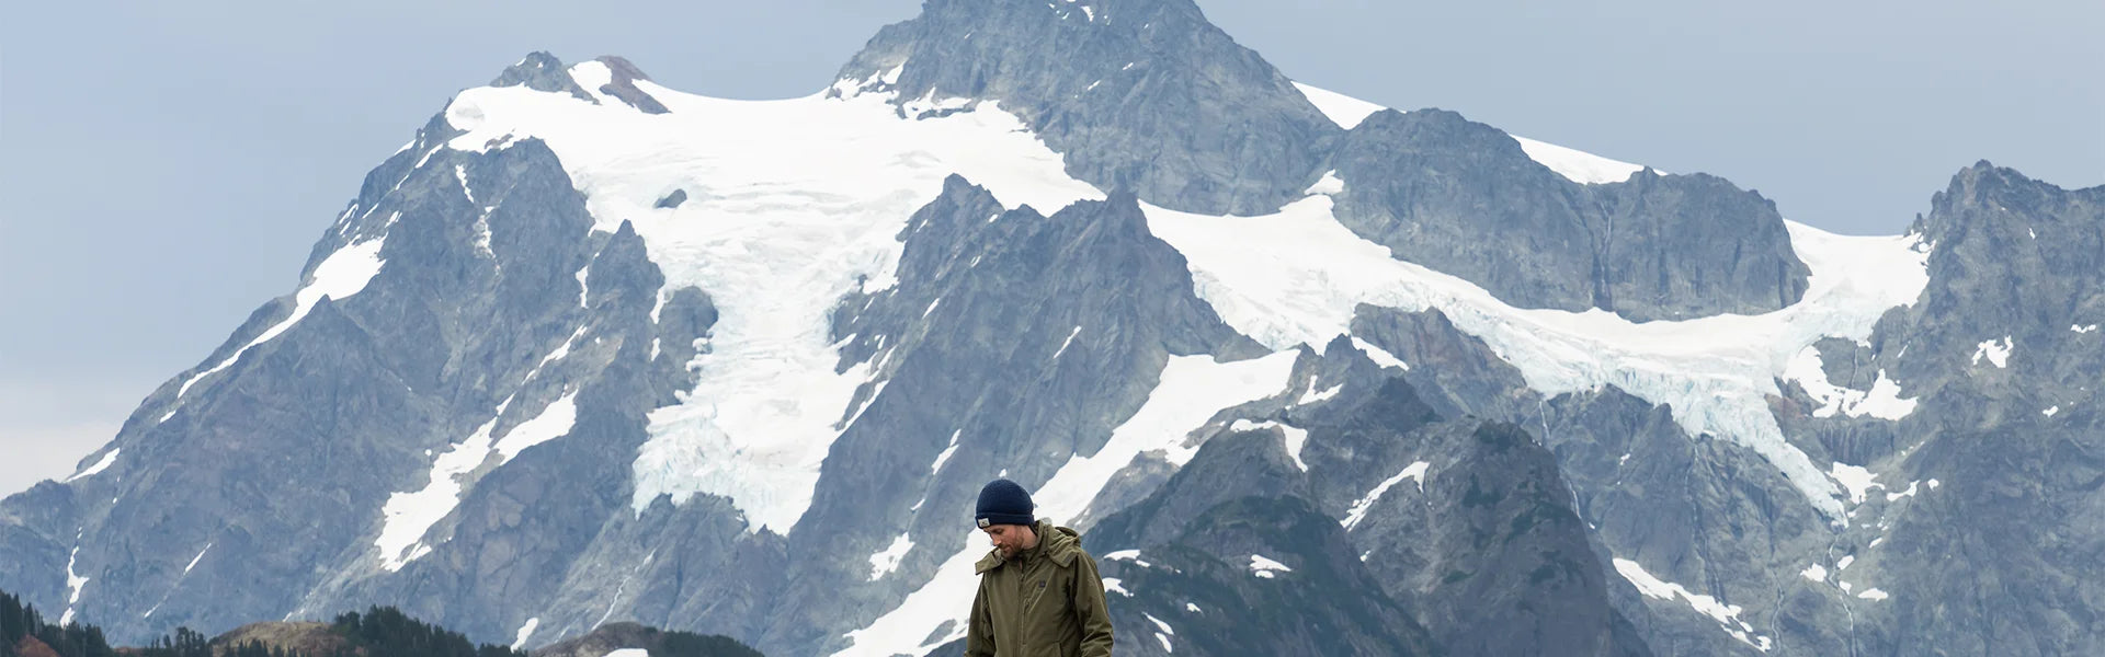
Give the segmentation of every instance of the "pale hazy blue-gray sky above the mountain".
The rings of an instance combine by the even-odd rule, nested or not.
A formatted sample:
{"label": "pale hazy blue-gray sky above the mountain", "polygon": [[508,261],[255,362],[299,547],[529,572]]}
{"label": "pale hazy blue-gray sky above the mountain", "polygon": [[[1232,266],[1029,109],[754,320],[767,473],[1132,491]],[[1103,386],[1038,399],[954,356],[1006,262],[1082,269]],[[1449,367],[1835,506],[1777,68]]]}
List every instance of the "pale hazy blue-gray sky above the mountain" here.
{"label": "pale hazy blue-gray sky above the mountain", "polygon": [[[1200,0],[1286,76],[1705,171],[1897,234],[1974,160],[2105,183],[2105,2]],[[528,51],[823,88],[911,0],[17,2],[0,23],[0,495],[299,284],[364,173]]]}

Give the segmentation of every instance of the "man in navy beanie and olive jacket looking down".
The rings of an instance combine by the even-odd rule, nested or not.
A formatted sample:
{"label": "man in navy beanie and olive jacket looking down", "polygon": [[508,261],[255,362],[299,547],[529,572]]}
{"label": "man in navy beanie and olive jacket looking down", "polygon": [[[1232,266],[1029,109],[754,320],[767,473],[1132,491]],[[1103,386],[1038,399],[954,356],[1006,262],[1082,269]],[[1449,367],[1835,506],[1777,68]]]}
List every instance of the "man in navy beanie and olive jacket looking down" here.
{"label": "man in navy beanie and olive jacket looking down", "polygon": [[975,522],[994,541],[981,558],[979,594],[964,638],[966,657],[1111,657],[1111,615],[1103,609],[1097,560],[1074,529],[1034,520],[1017,482],[979,489]]}

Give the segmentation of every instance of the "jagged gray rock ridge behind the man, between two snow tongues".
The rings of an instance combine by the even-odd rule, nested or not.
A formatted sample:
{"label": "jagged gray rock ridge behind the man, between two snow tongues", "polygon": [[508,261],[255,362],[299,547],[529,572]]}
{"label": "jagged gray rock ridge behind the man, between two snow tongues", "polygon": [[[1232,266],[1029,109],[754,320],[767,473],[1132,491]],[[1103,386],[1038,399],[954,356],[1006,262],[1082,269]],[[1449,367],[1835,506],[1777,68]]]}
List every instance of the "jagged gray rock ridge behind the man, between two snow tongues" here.
{"label": "jagged gray rock ridge behind the man, between two snow tongues", "polygon": [[[1170,356],[1263,352],[1196,297],[1132,194],[1046,217],[949,177],[899,238],[899,282],[834,318],[842,369],[876,373],[794,529],[823,548],[791,552],[766,651],[844,649],[836,625],[874,621],[964,548],[981,484],[1006,472],[1038,486],[1065,463],[1055,455],[1095,453]],[[871,581],[863,556],[901,533],[916,548]]]}

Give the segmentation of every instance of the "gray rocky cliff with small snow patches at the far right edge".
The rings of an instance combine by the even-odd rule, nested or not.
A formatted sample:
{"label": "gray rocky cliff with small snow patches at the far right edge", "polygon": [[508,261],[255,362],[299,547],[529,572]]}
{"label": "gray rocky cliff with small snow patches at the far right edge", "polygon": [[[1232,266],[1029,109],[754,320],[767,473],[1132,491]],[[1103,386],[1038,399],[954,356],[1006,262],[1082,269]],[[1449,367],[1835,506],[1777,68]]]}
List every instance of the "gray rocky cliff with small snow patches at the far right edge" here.
{"label": "gray rocky cliff with small snow patches at the far right edge", "polygon": [[2105,322],[2105,187],[1979,162],[1911,232],[1932,248],[1930,286],[1873,345],[1918,406],[1871,495],[1880,524],[1861,526],[1861,543],[1884,541],[1848,571],[1892,596],[1857,602],[1861,644],[2101,653],[2105,335],[2084,328]]}

